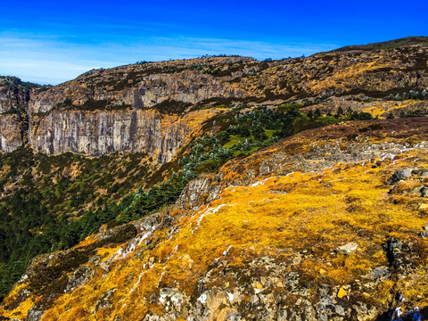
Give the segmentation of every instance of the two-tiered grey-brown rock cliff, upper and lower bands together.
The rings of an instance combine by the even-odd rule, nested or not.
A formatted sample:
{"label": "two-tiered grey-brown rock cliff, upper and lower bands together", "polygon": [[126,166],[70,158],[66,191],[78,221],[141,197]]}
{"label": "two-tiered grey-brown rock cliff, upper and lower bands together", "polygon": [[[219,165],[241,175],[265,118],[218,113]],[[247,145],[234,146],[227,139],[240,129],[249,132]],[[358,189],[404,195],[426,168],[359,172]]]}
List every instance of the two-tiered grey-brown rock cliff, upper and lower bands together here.
{"label": "two-tiered grey-brown rock cliff, upper and lower bands together", "polygon": [[210,111],[185,111],[212,98],[243,96],[192,70],[202,62],[221,68],[227,61],[251,60],[154,62],[90,71],[35,94],[29,103],[30,139],[37,151],[48,153],[149,152],[160,162],[170,161],[197,127],[194,119],[212,116]]}

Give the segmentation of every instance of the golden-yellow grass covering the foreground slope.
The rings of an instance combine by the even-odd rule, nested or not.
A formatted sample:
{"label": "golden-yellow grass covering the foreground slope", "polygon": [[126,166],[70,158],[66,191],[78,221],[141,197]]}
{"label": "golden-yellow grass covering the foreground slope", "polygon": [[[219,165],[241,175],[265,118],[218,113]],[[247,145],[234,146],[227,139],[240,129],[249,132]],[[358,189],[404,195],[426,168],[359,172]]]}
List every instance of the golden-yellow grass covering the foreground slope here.
{"label": "golden-yellow grass covering the foreground slope", "polygon": [[[426,139],[424,129],[421,130],[417,133],[404,127],[398,130],[395,139],[406,141],[407,136],[413,142]],[[323,142],[328,133],[325,128],[301,136],[303,145],[295,152],[304,152],[305,146],[314,141]],[[373,139],[390,141],[388,136],[376,135]],[[275,152],[282,144],[259,152],[246,163],[259,161],[260,155]],[[152,242],[140,244],[126,258],[113,259],[107,276],[103,268],[88,263],[88,267],[95,268],[94,278],[74,292],[61,295],[42,320],[72,320],[76,316],[95,320],[92,312],[95,304],[111,288],[118,289],[113,294],[111,309],[100,310],[96,317],[136,319],[149,309],[162,313],[161,304],[149,303],[152,292],[169,287],[192,296],[196,284],[210,269],[212,277],[206,286],[233,292],[239,287],[239,280],[232,275],[215,277],[221,275],[223,268],[214,262],[229,248],[225,263],[228,268],[245,269],[247,260],[268,255],[288,262],[290,270],[299,271],[314,286],[330,284],[336,289],[344,286],[346,300],[350,302],[363,301],[382,311],[390,308],[391,300],[399,292],[406,298],[407,307],[424,308],[428,306],[427,296],[421,296],[427,291],[428,243],[418,233],[427,220],[424,212],[417,209],[425,201],[413,194],[388,194],[391,186],[384,182],[396,169],[428,169],[427,159],[426,150],[407,151],[393,161],[386,158],[338,163],[333,169],[296,172],[259,180],[259,184],[251,186],[226,188],[218,199],[199,210],[173,211],[172,226],[156,230],[149,238]],[[222,170],[227,171],[228,166]],[[176,231],[172,236],[171,230]],[[396,281],[384,280],[362,293],[355,280],[364,283],[372,268],[388,266],[383,244],[391,237],[413,244],[416,268],[412,274]],[[344,256],[333,252],[351,241],[358,243],[355,253]],[[94,241],[88,240],[80,246],[88,242]],[[119,248],[107,245],[99,248],[97,254],[105,261],[115,257]],[[262,291],[284,292],[284,283],[263,288],[259,280],[260,276],[251,275],[248,282]],[[14,295],[25,286],[24,283],[15,288],[6,302],[13,301]],[[25,316],[34,300],[36,296],[31,296],[17,309],[0,313],[7,317]],[[250,297],[243,297],[243,302],[248,300]],[[293,304],[292,296],[287,300]]]}

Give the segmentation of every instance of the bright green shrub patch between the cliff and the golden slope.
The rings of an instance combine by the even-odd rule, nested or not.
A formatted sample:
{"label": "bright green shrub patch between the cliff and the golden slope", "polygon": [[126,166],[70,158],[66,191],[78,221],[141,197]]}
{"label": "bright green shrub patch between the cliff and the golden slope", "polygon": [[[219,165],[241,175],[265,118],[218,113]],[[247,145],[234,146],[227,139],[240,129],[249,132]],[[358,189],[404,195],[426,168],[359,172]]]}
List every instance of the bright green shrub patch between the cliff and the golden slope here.
{"label": "bright green shrub patch between the cliff and the golden slope", "polygon": [[179,152],[179,164],[193,175],[216,172],[232,158],[247,156],[302,130],[346,120],[372,119],[371,114],[362,111],[342,111],[340,108],[334,115],[322,115],[319,110],[304,114],[300,113],[299,107],[300,104],[291,103],[276,110],[245,105],[232,108],[211,124],[222,130],[196,139]]}

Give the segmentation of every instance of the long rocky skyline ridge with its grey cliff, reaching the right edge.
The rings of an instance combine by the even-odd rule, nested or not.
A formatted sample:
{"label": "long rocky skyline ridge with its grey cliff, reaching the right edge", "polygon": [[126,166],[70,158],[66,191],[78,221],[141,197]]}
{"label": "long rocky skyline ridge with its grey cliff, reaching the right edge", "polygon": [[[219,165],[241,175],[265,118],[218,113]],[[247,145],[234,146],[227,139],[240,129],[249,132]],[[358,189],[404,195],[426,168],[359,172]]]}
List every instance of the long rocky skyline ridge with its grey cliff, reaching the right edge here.
{"label": "long rocky skyline ridge with its grey cliff, reaching the right edge", "polygon": [[[379,53],[331,52],[265,62],[213,57],[92,70],[61,85],[34,90],[29,99],[29,125],[34,126],[28,129],[23,122],[19,131],[15,129],[15,136],[4,137],[4,145],[8,139],[21,139],[18,132],[28,131],[33,147],[46,153],[153,152],[150,142],[139,143],[151,126],[159,128],[156,131],[162,135],[172,130],[172,140],[184,141],[185,133],[171,129],[170,122],[162,123],[160,116],[179,105],[177,111],[184,112],[210,108],[216,102],[279,105],[296,101],[316,105],[343,99],[364,101],[366,97],[386,101],[393,101],[395,96],[405,99],[403,95],[411,98],[414,92],[422,95],[428,83],[428,54],[424,45],[408,48]],[[151,125],[141,121],[145,117],[152,118]],[[19,122],[8,120],[9,127],[20,127]],[[95,127],[94,122],[98,124]],[[125,128],[112,125],[119,123]],[[105,128],[103,124],[108,125]],[[113,136],[119,136],[116,141],[105,135],[111,130]],[[54,137],[53,131],[57,133]],[[4,148],[16,148],[17,143],[11,144],[13,147]],[[161,152],[171,147],[173,154],[177,152],[178,144],[164,144]],[[159,156],[158,160],[165,161]]]}

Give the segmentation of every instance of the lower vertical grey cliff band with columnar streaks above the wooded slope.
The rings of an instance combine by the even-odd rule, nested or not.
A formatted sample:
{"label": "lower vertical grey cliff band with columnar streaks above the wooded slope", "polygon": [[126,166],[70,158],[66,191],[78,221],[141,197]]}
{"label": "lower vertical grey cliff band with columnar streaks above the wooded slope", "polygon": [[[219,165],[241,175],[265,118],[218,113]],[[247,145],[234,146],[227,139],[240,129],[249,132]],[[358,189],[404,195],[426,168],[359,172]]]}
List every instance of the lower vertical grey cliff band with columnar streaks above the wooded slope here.
{"label": "lower vertical grey cliff band with columnar streaks above the wooded slope", "polygon": [[33,116],[30,140],[37,151],[47,154],[146,152],[165,163],[212,114],[193,111],[180,117],[155,110],[51,111]]}

